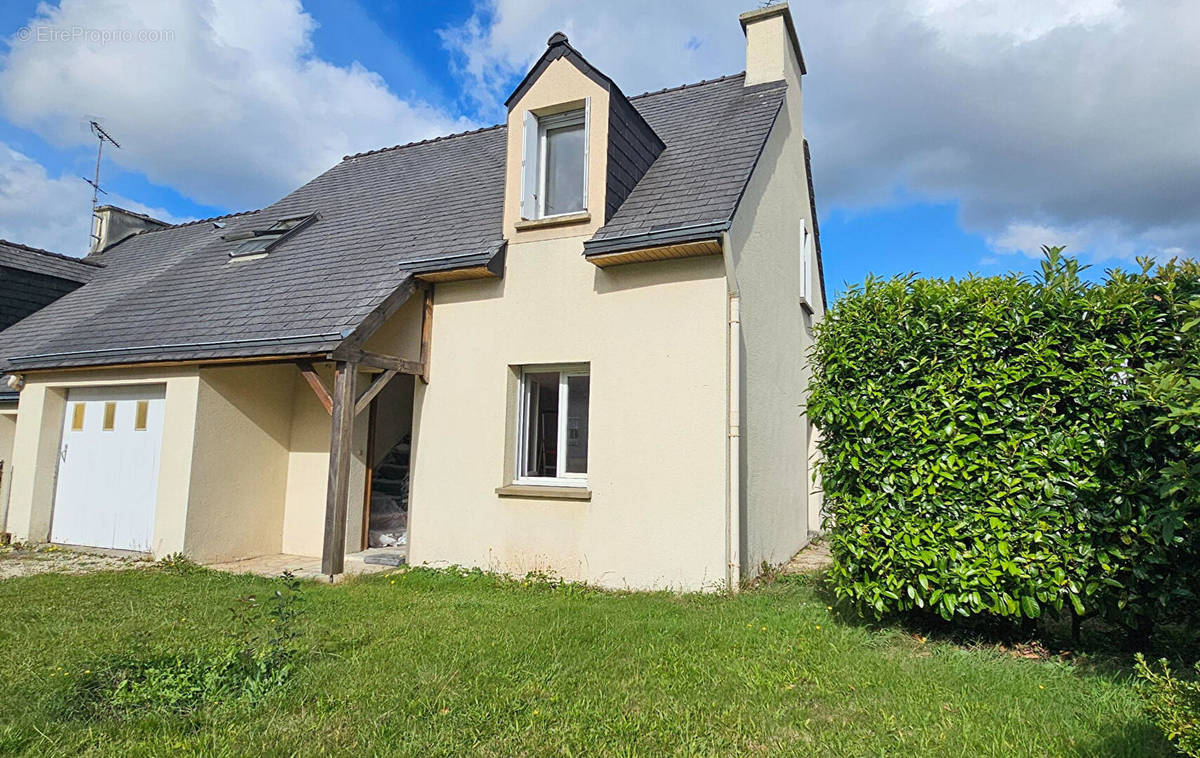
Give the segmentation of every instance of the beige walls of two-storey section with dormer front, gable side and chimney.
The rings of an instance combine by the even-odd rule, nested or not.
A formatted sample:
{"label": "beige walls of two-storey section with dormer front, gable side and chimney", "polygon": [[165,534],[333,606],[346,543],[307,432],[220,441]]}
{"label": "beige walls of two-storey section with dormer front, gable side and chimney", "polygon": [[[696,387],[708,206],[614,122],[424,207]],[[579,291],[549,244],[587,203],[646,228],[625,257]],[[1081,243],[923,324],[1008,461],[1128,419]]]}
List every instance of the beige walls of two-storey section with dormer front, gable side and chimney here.
{"label": "beige walls of two-storey section with dormer front, gable side and chimney", "polygon": [[[803,228],[814,228],[800,71],[781,16],[751,19],[746,34],[748,84],[784,78],[788,95],[724,258],[601,270],[582,255],[598,213],[523,229],[523,112],[593,98],[590,211],[604,192],[596,115],[607,108],[596,104],[607,92],[558,60],[511,108],[504,279],[437,288],[432,380],[415,398],[413,563],[713,589],[786,561],[820,528],[804,356],[823,302],[815,260],[815,313],[799,301]],[[516,372],[542,363],[590,367],[589,500],[494,492],[514,481]]]}

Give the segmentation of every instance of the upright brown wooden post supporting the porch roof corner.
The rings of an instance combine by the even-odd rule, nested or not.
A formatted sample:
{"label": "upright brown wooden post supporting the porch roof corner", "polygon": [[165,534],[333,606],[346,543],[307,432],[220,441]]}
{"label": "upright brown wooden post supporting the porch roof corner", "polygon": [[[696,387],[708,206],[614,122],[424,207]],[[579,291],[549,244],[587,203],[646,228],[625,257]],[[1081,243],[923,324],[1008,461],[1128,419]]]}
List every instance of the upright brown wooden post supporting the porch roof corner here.
{"label": "upright brown wooden post supporting the porch roof corner", "polygon": [[346,564],[346,509],[350,488],[350,444],[354,440],[354,378],[358,365],[337,363],[334,379],[334,422],[329,438],[329,482],[325,489],[325,545],[320,572],[332,578]]}

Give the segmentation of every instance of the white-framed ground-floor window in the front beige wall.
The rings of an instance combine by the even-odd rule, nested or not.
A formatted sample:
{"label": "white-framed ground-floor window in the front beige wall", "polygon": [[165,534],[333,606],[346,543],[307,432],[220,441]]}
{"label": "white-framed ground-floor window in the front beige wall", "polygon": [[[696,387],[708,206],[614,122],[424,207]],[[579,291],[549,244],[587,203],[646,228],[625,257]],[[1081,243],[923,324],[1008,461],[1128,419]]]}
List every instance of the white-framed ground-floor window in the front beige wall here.
{"label": "white-framed ground-floor window in the front beige wall", "polygon": [[590,396],[586,363],[521,369],[516,483],[587,486]]}

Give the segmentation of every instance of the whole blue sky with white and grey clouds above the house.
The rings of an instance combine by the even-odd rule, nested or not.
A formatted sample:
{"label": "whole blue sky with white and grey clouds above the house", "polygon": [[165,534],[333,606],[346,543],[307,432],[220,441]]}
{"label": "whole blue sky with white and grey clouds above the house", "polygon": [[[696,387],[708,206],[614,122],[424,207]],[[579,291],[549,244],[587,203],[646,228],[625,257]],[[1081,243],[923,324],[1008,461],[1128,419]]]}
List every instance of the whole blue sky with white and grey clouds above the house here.
{"label": "whole blue sky with white and grey clouds above the house", "polygon": [[[197,0],[199,10],[192,14],[156,18],[162,19],[162,28],[179,30],[176,44],[190,44],[193,35],[204,41],[208,32],[193,32],[187,26],[204,26],[204,19],[233,12],[221,2],[214,11],[210,1],[216,2]],[[127,2],[130,18],[145,17],[144,8],[132,7],[137,0]],[[72,227],[71,236],[55,224],[61,227],[62,219],[74,215],[85,219],[88,215],[86,193],[83,205],[76,207],[80,200],[71,181],[82,186],[76,178],[91,175],[95,148],[84,133],[89,115],[104,116],[104,124],[125,140],[121,154],[115,160],[106,158],[103,166],[102,182],[113,201],[176,219],[214,216],[265,205],[331,164],[340,157],[335,154],[341,145],[347,151],[371,149],[496,122],[502,118],[497,103],[558,28],[566,29],[572,43],[630,95],[738,71],[742,41],[737,12],[745,10],[742,6],[757,5],[697,2],[689,6],[694,17],[680,20],[678,13],[655,16],[654,11],[638,10],[646,6],[636,2],[601,7],[515,0],[305,0],[302,8],[294,0],[272,2],[278,6],[276,11],[265,10],[254,18],[239,18],[238,23],[248,29],[256,23],[272,29],[276,19],[270,13],[277,13],[283,19],[280,25],[292,35],[290,47],[268,53],[269,59],[233,58],[233,74],[222,74],[221,66],[214,64],[215,73],[203,74],[203,86],[193,95],[180,94],[178,101],[169,80],[145,86],[163,88],[154,97],[130,100],[130,90],[143,89],[142,77],[152,79],[151,68],[163,61],[203,68],[210,59],[176,60],[181,53],[175,48],[160,47],[148,54],[164,58],[142,61],[138,50],[102,46],[91,52],[91,58],[76,59],[90,62],[66,64],[64,55],[78,50],[61,47],[52,55],[44,46],[23,48],[14,42],[16,36],[10,37],[0,73],[0,143],[22,156],[22,176],[44,174],[46,199],[37,207],[47,203],[60,207],[40,219],[37,207],[30,210],[14,203],[8,210],[0,204],[0,236],[24,234],[35,239],[17,236],[16,241],[47,246],[56,242],[59,248],[67,248],[64,252],[82,252],[71,249],[67,240],[80,237],[82,246],[85,227],[82,234]],[[1079,73],[1087,67],[1078,65],[1092,47],[1111,46],[1123,36],[1136,37],[1142,46],[1153,42],[1170,54],[1174,43],[1186,44],[1193,14],[1188,13],[1184,23],[1178,18],[1134,17],[1129,7],[1108,0],[1058,4],[1057,14],[1044,11],[1054,2],[1033,4],[1037,12],[1016,7],[1012,13],[1003,10],[1012,4],[995,4],[991,16],[960,7],[972,4],[980,5],[976,0],[913,0],[913,7],[907,10],[900,4],[893,6],[894,14],[881,13],[876,6],[866,16],[860,8],[846,7],[853,4],[793,4],[810,72],[805,83],[806,132],[812,143],[830,294],[840,291],[844,282],[859,282],[868,273],[916,271],[958,277],[968,272],[1031,271],[1037,266],[1033,253],[1040,243],[1072,245],[1097,264],[1097,275],[1105,266],[1133,265],[1135,254],[1194,254],[1200,230],[1183,209],[1184,200],[1200,194],[1200,161],[1180,152],[1188,150],[1188,143],[1130,148],[1132,140],[1126,140],[1121,143],[1124,150],[1144,150],[1147,155],[1129,155],[1127,161],[1114,163],[1099,115],[1103,109],[1096,109],[1091,102],[1094,95],[1087,90],[1105,79],[1104,86],[1116,94],[1123,85],[1114,83],[1099,66],[1087,74]],[[1082,6],[1087,7],[1080,10]],[[56,14],[43,16],[38,23],[48,18],[54,24],[67,24],[72,18],[88,18],[83,6],[68,2],[61,12],[53,6],[52,11]],[[839,24],[847,20],[845,14],[856,12],[863,30],[859,38],[822,31],[827,26],[846,29]],[[0,35],[16,35],[37,16],[36,1],[10,0],[0,6]],[[632,18],[637,23],[631,25]],[[654,30],[644,29],[656,20],[670,26],[670,34],[660,30],[655,37]],[[214,25],[220,28],[222,23],[218,19]],[[1163,38],[1146,40],[1151,34]],[[1176,34],[1181,40],[1174,38]],[[644,38],[655,43],[640,44],[638,35],[650,35]],[[227,38],[218,43],[223,52],[235,47]],[[889,46],[919,54],[906,53],[901,61]],[[1014,48],[1022,54],[1015,56]],[[1048,49],[1064,56],[1066,62],[1045,62]],[[35,90],[28,82],[31,72],[46,68],[37,65],[38,55],[50,55],[42,64],[52,60],[64,66],[58,77],[67,83],[58,101],[53,91],[42,94],[46,86]],[[79,72],[104,67],[110,60],[110,77],[85,79]],[[244,60],[265,62],[236,62]],[[312,71],[313,62],[323,66],[320,72]],[[204,88],[209,85],[215,92],[238,86],[238,66],[268,68],[276,64],[283,70],[281,77],[304,77],[284,80],[312,86],[310,97],[322,98],[326,92],[344,92],[354,86],[366,88],[367,95],[359,100],[347,95],[346,102],[330,108],[332,115],[295,124],[288,122],[288,114],[294,112],[287,110],[286,103],[266,103],[263,120],[275,115],[287,125],[274,132],[245,113],[222,120],[226,116],[221,115],[217,96],[212,96],[216,104],[194,102],[204,101]],[[1182,68],[1183,84],[1200,83],[1194,66]],[[1176,65],[1172,77],[1180,73]],[[222,80],[221,76],[233,80]],[[1156,104],[1153,78],[1146,82],[1146,72],[1140,71],[1124,76],[1138,77],[1151,89],[1146,94],[1144,88],[1141,98],[1148,102],[1139,107]],[[346,77],[349,84],[312,84],[330,77]],[[1062,77],[1084,78],[1064,82]],[[58,86],[55,79],[48,82],[47,86]],[[371,97],[376,85],[390,94],[385,100],[391,110],[370,113],[361,119],[370,126],[355,131],[350,122],[359,121],[356,114],[370,104],[364,98]],[[110,90],[96,96],[97,88]],[[1078,100],[1072,95],[1076,91]],[[76,96],[79,102],[72,100],[71,92],[83,94]],[[979,97],[980,92],[992,95]],[[1164,101],[1170,96],[1164,90]],[[241,108],[252,110],[254,92],[242,97]],[[1009,102],[997,109],[996,100],[1003,102],[1006,97]],[[276,106],[278,114],[270,110]],[[96,108],[106,113],[97,114]],[[122,115],[139,113],[150,115],[127,120],[128,126],[119,128]],[[389,113],[403,119],[395,130],[389,128]],[[1194,109],[1172,113],[1158,108],[1158,113],[1166,120],[1163,128],[1172,134],[1196,126]],[[157,124],[156,131],[139,131],[146,121]],[[1061,122],[1075,132],[1066,131],[1066,126],[1056,131]],[[1015,130],[1012,124],[1018,125]],[[1140,133],[1146,134],[1139,124],[1129,128],[1141,128]],[[1022,130],[1027,133],[1014,134]],[[172,144],[164,132],[178,133],[178,143]],[[262,144],[254,146],[244,134],[252,134]],[[1114,134],[1112,139],[1121,137]],[[158,142],[166,144],[148,146]],[[242,145],[250,146],[242,150]],[[276,155],[272,145],[278,145],[283,155]],[[302,168],[288,166],[289,148],[302,156],[294,164],[307,161]],[[258,162],[269,170],[258,170]],[[1166,168],[1151,173],[1145,168],[1150,162]],[[251,168],[245,172],[239,168],[247,164]],[[1098,166],[1105,167],[1103,174],[1097,173]],[[258,178],[263,178],[260,182]],[[19,194],[22,186],[10,187],[8,192]],[[1145,201],[1130,204],[1130,191]],[[0,195],[2,192],[0,188]],[[61,200],[55,192],[64,195]],[[1162,199],[1151,201],[1156,198]],[[1172,213],[1166,207],[1172,204],[1181,210]]]}

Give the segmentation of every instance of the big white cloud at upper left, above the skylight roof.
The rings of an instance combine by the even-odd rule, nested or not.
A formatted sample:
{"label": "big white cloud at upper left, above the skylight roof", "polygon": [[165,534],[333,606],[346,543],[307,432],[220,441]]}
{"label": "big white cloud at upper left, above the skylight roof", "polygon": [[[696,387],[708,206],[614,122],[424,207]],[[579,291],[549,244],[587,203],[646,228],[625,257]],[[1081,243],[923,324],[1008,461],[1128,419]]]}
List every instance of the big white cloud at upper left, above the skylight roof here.
{"label": "big white cloud at upper left, above the skylight roof", "polygon": [[[296,0],[43,4],[31,38],[11,40],[0,107],[64,148],[95,144],[84,114],[98,115],[121,167],[232,207],[270,203],[346,154],[473,126],[314,56],[314,25]],[[133,40],[46,41],[73,29]],[[139,41],[146,31],[157,41]]]}

